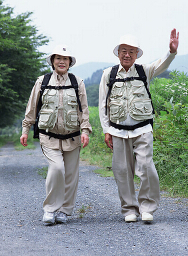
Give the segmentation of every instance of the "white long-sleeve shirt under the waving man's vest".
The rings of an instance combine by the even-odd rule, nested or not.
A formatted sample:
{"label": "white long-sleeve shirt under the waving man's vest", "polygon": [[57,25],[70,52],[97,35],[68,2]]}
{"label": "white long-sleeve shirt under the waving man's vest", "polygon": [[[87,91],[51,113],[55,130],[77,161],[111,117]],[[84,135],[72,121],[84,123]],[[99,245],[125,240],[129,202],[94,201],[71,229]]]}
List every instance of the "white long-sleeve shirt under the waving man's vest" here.
{"label": "white long-sleeve shirt under the waving man's vest", "polygon": [[[177,52],[170,53],[168,51],[168,53],[165,56],[161,57],[157,61],[154,61],[151,64],[143,65],[143,69],[147,77],[148,89],[149,89],[149,83],[151,79],[163,73],[169,67],[171,61],[173,61],[176,54]],[[111,73],[111,67],[103,71],[103,75],[101,77],[101,83],[99,85],[99,117],[101,121],[101,126],[103,128],[103,133],[109,133],[113,136],[127,139],[127,138],[137,137],[143,133],[148,133],[149,131],[153,131],[150,124],[145,125],[144,127],[137,128],[133,131],[127,131],[123,129],[119,130],[110,125],[109,107],[107,107],[107,115],[105,115],[105,102],[106,102],[107,92],[109,90],[109,88],[107,87],[107,83],[109,83],[110,73]],[[117,78],[133,77],[134,73],[135,73],[135,65],[130,67],[129,70],[126,72],[125,69],[120,64],[119,69],[117,71]],[[137,123],[139,123],[139,121],[133,119],[128,114],[127,119],[125,119],[125,121],[120,122],[119,125],[135,125]]]}

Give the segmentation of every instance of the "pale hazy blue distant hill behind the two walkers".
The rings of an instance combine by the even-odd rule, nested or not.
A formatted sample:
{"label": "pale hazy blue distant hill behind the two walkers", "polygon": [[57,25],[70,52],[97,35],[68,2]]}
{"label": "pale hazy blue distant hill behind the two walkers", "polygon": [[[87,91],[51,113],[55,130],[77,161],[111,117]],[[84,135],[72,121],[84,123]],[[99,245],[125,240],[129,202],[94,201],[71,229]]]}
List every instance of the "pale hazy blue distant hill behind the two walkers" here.
{"label": "pale hazy blue distant hill behind the two walkers", "polygon": [[[86,81],[86,83],[93,84],[93,78],[95,74],[102,74],[103,69],[113,65],[115,65],[115,63],[89,62],[77,67],[71,67],[70,72],[74,73],[78,77],[81,77],[84,81]],[[188,55],[177,55],[169,66],[168,71],[172,71],[174,69],[188,74]],[[94,81],[94,83],[96,83],[96,81]]]}

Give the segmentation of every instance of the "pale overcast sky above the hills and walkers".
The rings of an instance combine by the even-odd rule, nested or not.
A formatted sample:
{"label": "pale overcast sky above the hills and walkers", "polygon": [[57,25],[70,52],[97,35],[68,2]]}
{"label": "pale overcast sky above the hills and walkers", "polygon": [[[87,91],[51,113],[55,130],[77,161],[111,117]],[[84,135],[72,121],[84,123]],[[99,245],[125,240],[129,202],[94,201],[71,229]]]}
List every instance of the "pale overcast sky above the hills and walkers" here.
{"label": "pale overcast sky above the hills and walkers", "polygon": [[137,63],[151,63],[169,50],[173,28],[179,31],[178,55],[188,54],[187,0],[4,0],[3,5],[15,15],[33,12],[31,25],[50,39],[39,50],[50,54],[56,45],[69,45],[75,65],[119,63],[113,49],[126,34],[135,35],[143,49]]}

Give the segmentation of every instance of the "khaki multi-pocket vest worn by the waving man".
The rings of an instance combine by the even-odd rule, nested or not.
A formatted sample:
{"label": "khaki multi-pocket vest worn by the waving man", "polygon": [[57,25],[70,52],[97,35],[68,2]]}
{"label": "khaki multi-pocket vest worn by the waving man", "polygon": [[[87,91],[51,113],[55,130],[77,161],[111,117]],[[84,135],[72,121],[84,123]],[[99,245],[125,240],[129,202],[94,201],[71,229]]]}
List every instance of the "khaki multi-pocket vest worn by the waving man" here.
{"label": "khaki multi-pocket vest worn by the waving man", "polygon": [[137,121],[153,118],[151,99],[143,81],[115,82],[111,89],[109,107],[113,123],[125,121],[128,113]]}

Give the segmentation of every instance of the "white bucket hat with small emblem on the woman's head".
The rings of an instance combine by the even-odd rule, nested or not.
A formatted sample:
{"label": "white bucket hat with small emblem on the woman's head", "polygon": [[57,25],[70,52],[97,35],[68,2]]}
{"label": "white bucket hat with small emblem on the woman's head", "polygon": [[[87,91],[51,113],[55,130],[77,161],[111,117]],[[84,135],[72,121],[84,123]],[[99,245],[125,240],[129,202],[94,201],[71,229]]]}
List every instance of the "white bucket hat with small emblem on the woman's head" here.
{"label": "white bucket hat with small emblem on the woman's head", "polygon": [[76,59],[75,57],[72,56],[71,51],[67,45],[57,45],[55,49],[53,49],[53,52],[47,57],[47,63],[49,63],[49,65],[51,66],[52,66],[51,56],[54,54],[71,57],[72,63],[69,67],[73,67],[73,65],[75,65],[76,63]]}

